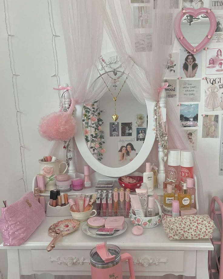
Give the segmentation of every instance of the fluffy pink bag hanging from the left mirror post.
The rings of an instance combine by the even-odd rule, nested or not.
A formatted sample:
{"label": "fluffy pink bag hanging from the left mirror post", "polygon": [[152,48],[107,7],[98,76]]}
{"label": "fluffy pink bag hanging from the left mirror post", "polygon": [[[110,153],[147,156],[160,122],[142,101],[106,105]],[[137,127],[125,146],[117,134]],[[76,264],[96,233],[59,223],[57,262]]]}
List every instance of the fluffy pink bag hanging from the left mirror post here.
{"label": "fluffy pink bag hanging from the left mirror post", "polygon": [[71,98],[71,106],[68,112],[58,111],[44,116],[38,127],[39,134],[47,140],[69,140],[76,130],[76,121],[73,117],[75,107],[74,99]]}

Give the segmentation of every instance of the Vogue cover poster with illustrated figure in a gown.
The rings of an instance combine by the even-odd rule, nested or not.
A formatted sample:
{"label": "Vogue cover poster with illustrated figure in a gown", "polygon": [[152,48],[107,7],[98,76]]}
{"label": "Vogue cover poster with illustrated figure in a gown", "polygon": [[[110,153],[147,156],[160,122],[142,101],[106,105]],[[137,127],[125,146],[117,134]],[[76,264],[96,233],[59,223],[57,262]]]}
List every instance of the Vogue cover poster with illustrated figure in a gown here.
{"label": "Vogue cover poster with illustrated figure in a gown", "polygon": [[205,111],[223,110],[223,77],[205,79]]}

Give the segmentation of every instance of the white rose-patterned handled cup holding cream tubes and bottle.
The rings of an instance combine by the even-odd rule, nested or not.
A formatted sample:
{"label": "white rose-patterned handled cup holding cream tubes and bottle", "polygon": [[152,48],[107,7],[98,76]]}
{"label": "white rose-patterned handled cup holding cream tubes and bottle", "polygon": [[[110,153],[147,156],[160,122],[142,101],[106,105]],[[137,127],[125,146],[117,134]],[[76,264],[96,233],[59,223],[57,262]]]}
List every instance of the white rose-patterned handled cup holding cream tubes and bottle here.
{"label": "white rose-patterned handled cup holding cream tubes and bottle", "polygon": [[131,223],[134,226],[140,226],[140,227],[143,227],[144,229],[152,229],[152,228],[155,228],[156,226],[158,226],[159,224],[161,224],[162,210],[161,210],[161,207],[160,207],[160,204],[158,203],[158,201],[155,200],[155,202],[159,208],[159,215],[154,216],[154,217],[138,217],[132,213],[132,210],[130,210],[129,218],[131,220]]}

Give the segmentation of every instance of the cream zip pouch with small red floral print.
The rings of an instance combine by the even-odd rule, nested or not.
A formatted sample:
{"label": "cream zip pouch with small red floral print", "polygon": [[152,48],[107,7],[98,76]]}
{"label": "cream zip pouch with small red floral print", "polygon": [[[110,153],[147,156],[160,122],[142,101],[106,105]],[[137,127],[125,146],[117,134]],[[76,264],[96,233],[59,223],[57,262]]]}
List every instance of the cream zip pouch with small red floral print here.
{"label": "cream zip pouch with small red floral print", "polygon": [[189,215],[163,219],[163,228],[169,239],[212,238],[214,221],[208,215]]}

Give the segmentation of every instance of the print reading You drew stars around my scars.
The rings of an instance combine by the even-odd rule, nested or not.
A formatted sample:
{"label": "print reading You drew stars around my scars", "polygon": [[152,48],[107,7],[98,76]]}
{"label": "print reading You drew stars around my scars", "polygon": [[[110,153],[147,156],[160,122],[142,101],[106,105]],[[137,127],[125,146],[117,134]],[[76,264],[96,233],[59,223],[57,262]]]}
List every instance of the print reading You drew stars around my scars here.
{"label": "print reading You drew stars around my scars", "polygon": [[201,81],[179,80],[179,102],[200,102],[201,100]]}

